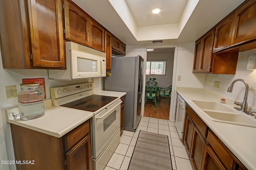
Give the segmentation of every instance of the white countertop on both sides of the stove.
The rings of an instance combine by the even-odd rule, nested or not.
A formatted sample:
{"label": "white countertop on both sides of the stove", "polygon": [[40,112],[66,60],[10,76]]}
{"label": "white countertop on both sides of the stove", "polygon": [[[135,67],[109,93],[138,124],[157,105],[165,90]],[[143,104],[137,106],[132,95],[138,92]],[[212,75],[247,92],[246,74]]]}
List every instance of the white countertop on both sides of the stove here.
{"label": "white countertop on both sides of the stove", "polygon": [[[97,91],[94,94],[121,98],[126,92]],[[52,106],[52,100],[44,100],[44,112],[42,117],[32,120],[14,120],[11,112],[19,113],[19,107],[6,109],[8,123],[26,127],[34,131],[45,133],[54,137],[62,137],[72,131],[91,117],[93,113],[80,111],[67,107]]]}

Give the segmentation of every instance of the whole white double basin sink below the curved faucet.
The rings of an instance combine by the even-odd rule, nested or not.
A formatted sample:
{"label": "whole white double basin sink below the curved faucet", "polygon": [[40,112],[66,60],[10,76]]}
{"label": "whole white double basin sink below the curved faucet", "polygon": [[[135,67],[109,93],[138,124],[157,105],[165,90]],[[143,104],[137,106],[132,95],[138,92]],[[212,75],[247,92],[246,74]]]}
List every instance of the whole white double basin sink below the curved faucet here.
{"label": "whole white double basin sink below the curved faucet", "polygon": [[[212,121],[256,127],[256,119],[218,102],[192,100]],[[239,113],[240,112],[240,113]]]}

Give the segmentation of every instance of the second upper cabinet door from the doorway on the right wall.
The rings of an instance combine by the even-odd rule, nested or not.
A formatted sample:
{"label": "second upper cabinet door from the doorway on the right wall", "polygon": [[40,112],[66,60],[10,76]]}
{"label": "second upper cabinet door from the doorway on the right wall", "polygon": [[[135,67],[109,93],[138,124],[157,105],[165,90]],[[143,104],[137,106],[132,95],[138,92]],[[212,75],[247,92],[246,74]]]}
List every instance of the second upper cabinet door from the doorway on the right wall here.
{"label": "second upper cabinet door from the doorway on the right wall", "polygon": [[200,59],[200,72],[210,72],[212,61],[212,47],[214,40],[214,29],[202,38],[202,53]]}

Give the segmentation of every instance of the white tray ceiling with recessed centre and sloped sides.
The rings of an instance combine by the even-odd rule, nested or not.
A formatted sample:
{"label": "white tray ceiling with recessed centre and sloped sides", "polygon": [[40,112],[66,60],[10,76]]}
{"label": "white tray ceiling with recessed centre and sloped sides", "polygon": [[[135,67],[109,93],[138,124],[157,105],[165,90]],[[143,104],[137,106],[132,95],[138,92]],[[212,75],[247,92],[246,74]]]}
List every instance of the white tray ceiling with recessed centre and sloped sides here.
{"label": "white tray ceiling with recessed centre and sloped sides", "polygon": [[[244,0],[73,0],[126,45],[194,42]],[[153,8],[161,8],[153,16]]]}

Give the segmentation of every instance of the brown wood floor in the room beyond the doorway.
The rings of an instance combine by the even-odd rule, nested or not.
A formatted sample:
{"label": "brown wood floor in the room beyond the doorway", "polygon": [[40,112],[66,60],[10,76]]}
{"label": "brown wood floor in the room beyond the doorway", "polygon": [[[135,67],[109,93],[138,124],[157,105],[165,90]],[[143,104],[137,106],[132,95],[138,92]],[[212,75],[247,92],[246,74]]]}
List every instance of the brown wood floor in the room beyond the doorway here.
{"label": "brown wood floor in the room beyond the doorway", "polygon": [[161,98],[160,103],[157,102],[157,108],[152,100],[147,100],[144,107],[144,116],[169,120],[169,114],[170,103],[168,99]]}

